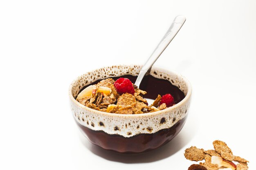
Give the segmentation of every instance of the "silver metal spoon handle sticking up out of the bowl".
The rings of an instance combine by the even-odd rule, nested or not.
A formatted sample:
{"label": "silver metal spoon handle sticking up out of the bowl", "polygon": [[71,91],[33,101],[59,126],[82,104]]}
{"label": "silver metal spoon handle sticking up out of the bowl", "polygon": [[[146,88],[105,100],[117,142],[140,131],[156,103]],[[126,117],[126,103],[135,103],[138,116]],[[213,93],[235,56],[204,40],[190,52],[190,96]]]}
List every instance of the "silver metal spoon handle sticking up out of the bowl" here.
{"label": "silver metal spoon handle sticking up out of the bowl", "polygon": [[159,42],[157,47],[155,48],[154,52],[150,55],[146,63],[142,66],[141,71],[136,79],[135,85],[139,87],[141,80],[143,79],[144,75],[147,71],[153,66],[155,61],[158,57],[162,54],[162,52],[166,49],[166,47],[170,44],[171,40],[175,37],[175,35],[180,31],[180,28],[186,21],[186,18],[182,15],[177,16],[173,23],[171,24],[170,28]]}

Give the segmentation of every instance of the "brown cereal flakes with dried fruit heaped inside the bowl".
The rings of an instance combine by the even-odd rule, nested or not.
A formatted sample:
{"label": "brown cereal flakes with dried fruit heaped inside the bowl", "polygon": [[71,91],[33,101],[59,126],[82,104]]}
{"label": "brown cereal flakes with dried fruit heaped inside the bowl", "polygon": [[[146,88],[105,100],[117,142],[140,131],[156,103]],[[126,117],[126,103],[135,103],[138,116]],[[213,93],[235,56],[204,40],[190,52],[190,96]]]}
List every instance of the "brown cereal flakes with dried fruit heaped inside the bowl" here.
{"label": "brown cereal flakes with dried fruit heaped inside the bowl", "polygon": [[143,98],[147,92],[133,86],[134,93],[117,92],[112,78],[103,79],[98,84],[88,86],[79,93],[76,100],[89,108],[108,113],[141,114],[151,113],[167,108],[165,103],[159,105],[161,95],[158,95],[153,104]]}

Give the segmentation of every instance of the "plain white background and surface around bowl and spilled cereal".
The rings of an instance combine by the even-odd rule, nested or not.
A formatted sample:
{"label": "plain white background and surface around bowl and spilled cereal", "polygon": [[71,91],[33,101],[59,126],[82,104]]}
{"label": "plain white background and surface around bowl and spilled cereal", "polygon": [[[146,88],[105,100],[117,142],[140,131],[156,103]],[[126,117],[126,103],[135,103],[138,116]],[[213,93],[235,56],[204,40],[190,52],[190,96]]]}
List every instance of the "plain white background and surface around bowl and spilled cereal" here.
{"label": "plain white background and surface around bowl and spilled cereal", "polygon": [[[0,1],[0,169],[186,170],[184,150],[215,139],[256,169],[255,9],[255,0]],[[176,15],[187,20],[155,65],[193,86],[184,128],[141,155],[93,146],[72,118],[70,83],[143,64]]]}

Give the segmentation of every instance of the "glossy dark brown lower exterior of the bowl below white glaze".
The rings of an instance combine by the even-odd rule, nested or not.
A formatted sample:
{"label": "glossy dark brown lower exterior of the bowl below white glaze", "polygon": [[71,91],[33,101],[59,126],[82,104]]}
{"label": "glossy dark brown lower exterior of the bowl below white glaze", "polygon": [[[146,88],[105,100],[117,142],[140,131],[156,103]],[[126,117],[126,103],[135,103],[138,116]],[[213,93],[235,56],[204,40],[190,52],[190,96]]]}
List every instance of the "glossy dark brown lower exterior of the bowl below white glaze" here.
{"label": "glossy dark brown lower exterior of the bowl below white glaze", "polygon": [[[167,144],[183,128],[186,117],[178,121],[171,128],[162,129],[151,134],[139,134],[133,137],[110,135],[99,130],[91,130],[76,122],[83,135],[92,143],[106,150],[113,150],[124,154],[148,152]],[[175,146],[174,146],[175,147]]]}

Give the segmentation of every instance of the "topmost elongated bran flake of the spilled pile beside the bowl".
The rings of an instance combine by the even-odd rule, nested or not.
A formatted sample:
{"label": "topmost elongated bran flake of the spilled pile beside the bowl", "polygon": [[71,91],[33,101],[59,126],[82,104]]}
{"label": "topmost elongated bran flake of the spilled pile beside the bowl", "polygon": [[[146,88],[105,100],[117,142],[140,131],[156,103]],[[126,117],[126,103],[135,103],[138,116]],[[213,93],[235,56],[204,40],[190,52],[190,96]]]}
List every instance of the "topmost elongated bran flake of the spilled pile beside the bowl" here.
{"label": "topmost elongated bran flake of the spilled pile beside the bowl", "polygon": [[213,147],[223,159],[226,159],[227,161],[234,160],[234,155],[225,142],[220,140],[213,141]]}

